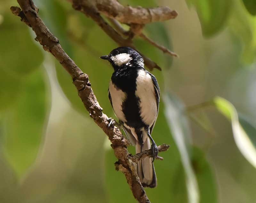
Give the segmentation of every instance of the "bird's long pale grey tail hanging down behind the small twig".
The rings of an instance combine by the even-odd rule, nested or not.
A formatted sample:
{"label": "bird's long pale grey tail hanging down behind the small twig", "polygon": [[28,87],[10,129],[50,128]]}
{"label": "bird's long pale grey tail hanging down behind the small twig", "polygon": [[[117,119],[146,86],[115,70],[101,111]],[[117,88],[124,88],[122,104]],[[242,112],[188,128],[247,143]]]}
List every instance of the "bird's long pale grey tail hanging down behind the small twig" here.
{"label": "bird's long pale grey tail hanging down behind the small twig", "polygon": [[[145,150],[150,149],[150,140],[147,138],[145,142],[141,145],[139,141],[136,143],[136,154],[143,152]],[[137,163],[137,172],[140,177],[140,182],[143,187],[151,187],[154,188],[157,185],[156,172],[154,168],[154,164],[152,163],[152,158],[145,157],[142,158]]]}

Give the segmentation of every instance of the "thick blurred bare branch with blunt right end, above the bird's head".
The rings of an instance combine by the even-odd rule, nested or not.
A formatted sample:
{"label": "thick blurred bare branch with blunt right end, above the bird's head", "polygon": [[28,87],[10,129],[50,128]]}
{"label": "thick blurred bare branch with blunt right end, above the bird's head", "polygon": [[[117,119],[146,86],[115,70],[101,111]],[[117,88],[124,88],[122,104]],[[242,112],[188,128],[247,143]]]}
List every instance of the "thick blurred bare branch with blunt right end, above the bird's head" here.
{"label": "thick blurred bare branch with blunt right end, above the bird's head", "polygon": [[147,24],[165,21],[174,19],[178,15],[177,11],[171,10],[166,6],[156,8],[123,6],[116,0],[96,0],[95,4],[97,9],[104,15],[127,24]]}

